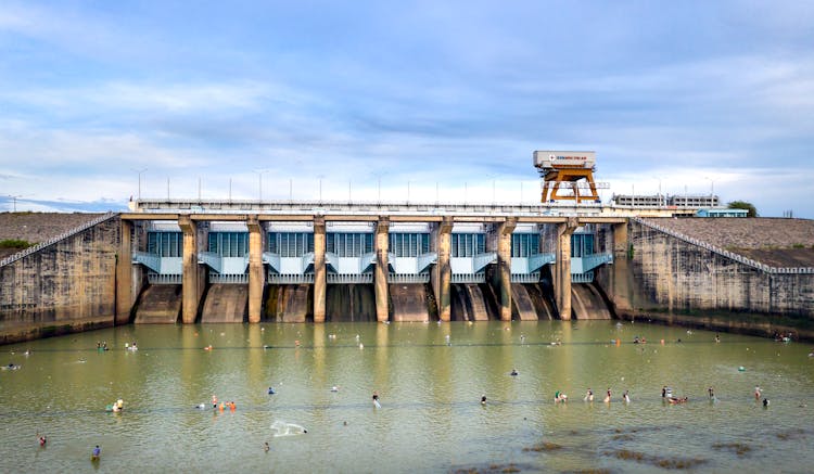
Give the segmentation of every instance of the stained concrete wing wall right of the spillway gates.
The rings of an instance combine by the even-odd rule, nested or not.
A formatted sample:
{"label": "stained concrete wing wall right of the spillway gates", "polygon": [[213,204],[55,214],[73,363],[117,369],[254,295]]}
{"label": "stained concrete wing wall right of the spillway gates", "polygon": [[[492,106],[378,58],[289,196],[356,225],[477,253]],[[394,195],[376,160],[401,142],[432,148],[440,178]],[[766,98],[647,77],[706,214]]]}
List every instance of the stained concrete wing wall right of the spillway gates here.
{"label": "stained concrete wing wall right of the spillway gates", "polygon": [[[608,232],[618,241],[610,244],[614,264],[597,269],[596,281],[618,316],[756,335],[792,332],[814,338],[814,269],[774,267],[750,258],[760,251],[774,255],[770,262],[783,261],[783,246],[790,247],[792,254],[812,253],[798,243],[749,248],[754,246],[750,242],[755,234],[781,234],[778,226],[788,222],[774,219],[764,229],[768,219],[671,220],[631,219],[624,232]],[[730,249],[709,243],[721,241],[711,234],[713,226],[735,239],[727,243]],[[727,226],[738,226],[738,230]],[[702,241],[690,232],[707,232],[708,236]],[[798,256],[794,261],[809,260]]]}

